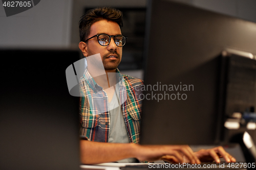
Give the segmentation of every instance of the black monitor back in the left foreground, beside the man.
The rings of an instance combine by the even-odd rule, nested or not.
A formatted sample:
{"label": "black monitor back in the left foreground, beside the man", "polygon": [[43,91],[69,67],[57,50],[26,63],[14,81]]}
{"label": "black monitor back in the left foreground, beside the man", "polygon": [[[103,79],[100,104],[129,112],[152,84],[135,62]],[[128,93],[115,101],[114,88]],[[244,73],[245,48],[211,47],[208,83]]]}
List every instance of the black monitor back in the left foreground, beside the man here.
{"label": "black monitor back in the left foreground, beside the man", "polygon": [[79,169],[77,50],[1,49],[0,169]]}

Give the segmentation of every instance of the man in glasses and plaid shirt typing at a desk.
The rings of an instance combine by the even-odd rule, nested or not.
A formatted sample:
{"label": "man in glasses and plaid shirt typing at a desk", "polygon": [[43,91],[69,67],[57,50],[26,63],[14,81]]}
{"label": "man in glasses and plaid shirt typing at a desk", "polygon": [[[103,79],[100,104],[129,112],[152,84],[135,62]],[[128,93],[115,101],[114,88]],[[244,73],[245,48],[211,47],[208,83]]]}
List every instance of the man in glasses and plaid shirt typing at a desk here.
{"label": "man in glasses and plaid shirt typing at a desk", "polygon": [[91,10],[80,20],[79,48],[88,62],[80,79],[80,133],[87,139],[80,142],[81,162],[162,159],[200,163],[209,160],[220,162],[219,157],[235,162],[236,159],[222,147],[193,153],[187,145],[138,144],[141,100],[135,89],[142,85],[142,81],[121,75],[117,69],[126,41],[121,27],[122,13],[112,8]]}

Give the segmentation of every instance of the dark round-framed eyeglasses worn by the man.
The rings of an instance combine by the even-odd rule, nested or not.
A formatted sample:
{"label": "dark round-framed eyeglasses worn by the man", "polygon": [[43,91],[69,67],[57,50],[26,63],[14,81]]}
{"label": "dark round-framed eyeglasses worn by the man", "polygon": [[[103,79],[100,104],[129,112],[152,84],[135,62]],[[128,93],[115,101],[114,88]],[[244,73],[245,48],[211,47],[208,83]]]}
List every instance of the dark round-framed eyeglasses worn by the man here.
{"label": "dark round-framed eyeglasses worn by the man", "polygon": [[123,35],[98,34],[98,35],[92,36],[91,38],[88,38],[84,42],[86,42],[89,39],[92,39],[93,37],[96,37],[96,36],[98,37],[99,44],[102,45],[102,46],[109,45],[110,41],[111,41],[111,37],[113,37],[116,45],[122,47],[125,44],[125,41],[126,41],[126,38],[127,38]]}

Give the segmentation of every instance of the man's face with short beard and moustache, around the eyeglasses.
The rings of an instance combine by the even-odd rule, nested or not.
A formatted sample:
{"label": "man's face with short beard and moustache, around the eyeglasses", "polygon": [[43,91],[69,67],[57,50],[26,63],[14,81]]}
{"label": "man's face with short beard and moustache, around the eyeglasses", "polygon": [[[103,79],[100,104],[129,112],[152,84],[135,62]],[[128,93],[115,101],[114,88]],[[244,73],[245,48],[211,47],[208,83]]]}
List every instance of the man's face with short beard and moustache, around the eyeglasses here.
{"label": "man's face with short beard and moustache, around the eyeglasses", "polygon": [[[96,34],[120,35],[121,30],[116,22],[108,20],[100,20],[91,26],[91,32],[88,38]],[[111,38],[110,44],[102,46],[99,44],[97,37],[87,41],[88,56],[100,53],[105,70],[114,71],[122,59],[122,47],[115,44]]]}

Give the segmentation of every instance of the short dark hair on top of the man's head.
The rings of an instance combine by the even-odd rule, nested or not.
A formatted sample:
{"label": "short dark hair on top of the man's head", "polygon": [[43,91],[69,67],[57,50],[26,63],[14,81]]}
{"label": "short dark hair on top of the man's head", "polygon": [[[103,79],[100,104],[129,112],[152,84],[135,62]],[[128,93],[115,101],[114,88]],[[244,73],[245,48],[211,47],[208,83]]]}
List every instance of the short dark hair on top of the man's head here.
{"label": "short dark hair on top of the man's head", "polygon": [[86,14],[81,16],[79,21],[80,41],[85,41],[88,38],[91,31],[91,26],[93,23],[99,20],[106,19],[114,21],[119,25],[121,29],[123,26],[122,17],[123,14],[121,11],[110,7],[100,7],[87,11]]}

